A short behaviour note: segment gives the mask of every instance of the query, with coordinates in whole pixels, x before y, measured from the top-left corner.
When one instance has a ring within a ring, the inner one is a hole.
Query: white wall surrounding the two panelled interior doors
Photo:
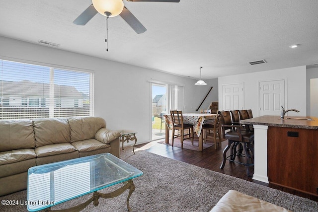
[[[306,66],[219,77],[219,109],[222,109],[222,86],[244,82],[244,107],[259,116],[259,82],[287,79],[287,109],[297,109],[295,116],[306,116]],[[291,114],[290,114],[291,115]],[[294,115],[294,114],[293,114]]]

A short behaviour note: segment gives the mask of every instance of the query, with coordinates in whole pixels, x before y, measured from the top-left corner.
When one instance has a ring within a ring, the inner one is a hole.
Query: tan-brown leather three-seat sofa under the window
[[[99,117],[0,120],[0,196],[27,188],[30,167],[110,152],[120,133]]]

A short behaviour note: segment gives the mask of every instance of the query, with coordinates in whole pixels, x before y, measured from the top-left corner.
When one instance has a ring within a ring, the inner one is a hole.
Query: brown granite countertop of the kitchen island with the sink
[[[312,119],[312,121],[307,119]],[[287,116],[285,119],[280,119],[280,116],[260,116],[252,119],[240,120],[239,123],[318,130],[318,118],[308,116]]]

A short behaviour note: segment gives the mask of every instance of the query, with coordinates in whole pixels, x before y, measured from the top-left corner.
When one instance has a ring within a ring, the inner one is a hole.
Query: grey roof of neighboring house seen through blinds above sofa
[[[1,81],[0,93],[7,96],[50,96],[50,84],[32,82],[29,80],[22,81]],[[83,98],[83,94],[74,86],[54,84],[54,96]]]

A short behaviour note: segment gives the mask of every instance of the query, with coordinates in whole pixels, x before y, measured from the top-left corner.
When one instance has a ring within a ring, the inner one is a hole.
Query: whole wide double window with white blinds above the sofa
[[[0,60],[0,119],[92,116],[92,74]]]

